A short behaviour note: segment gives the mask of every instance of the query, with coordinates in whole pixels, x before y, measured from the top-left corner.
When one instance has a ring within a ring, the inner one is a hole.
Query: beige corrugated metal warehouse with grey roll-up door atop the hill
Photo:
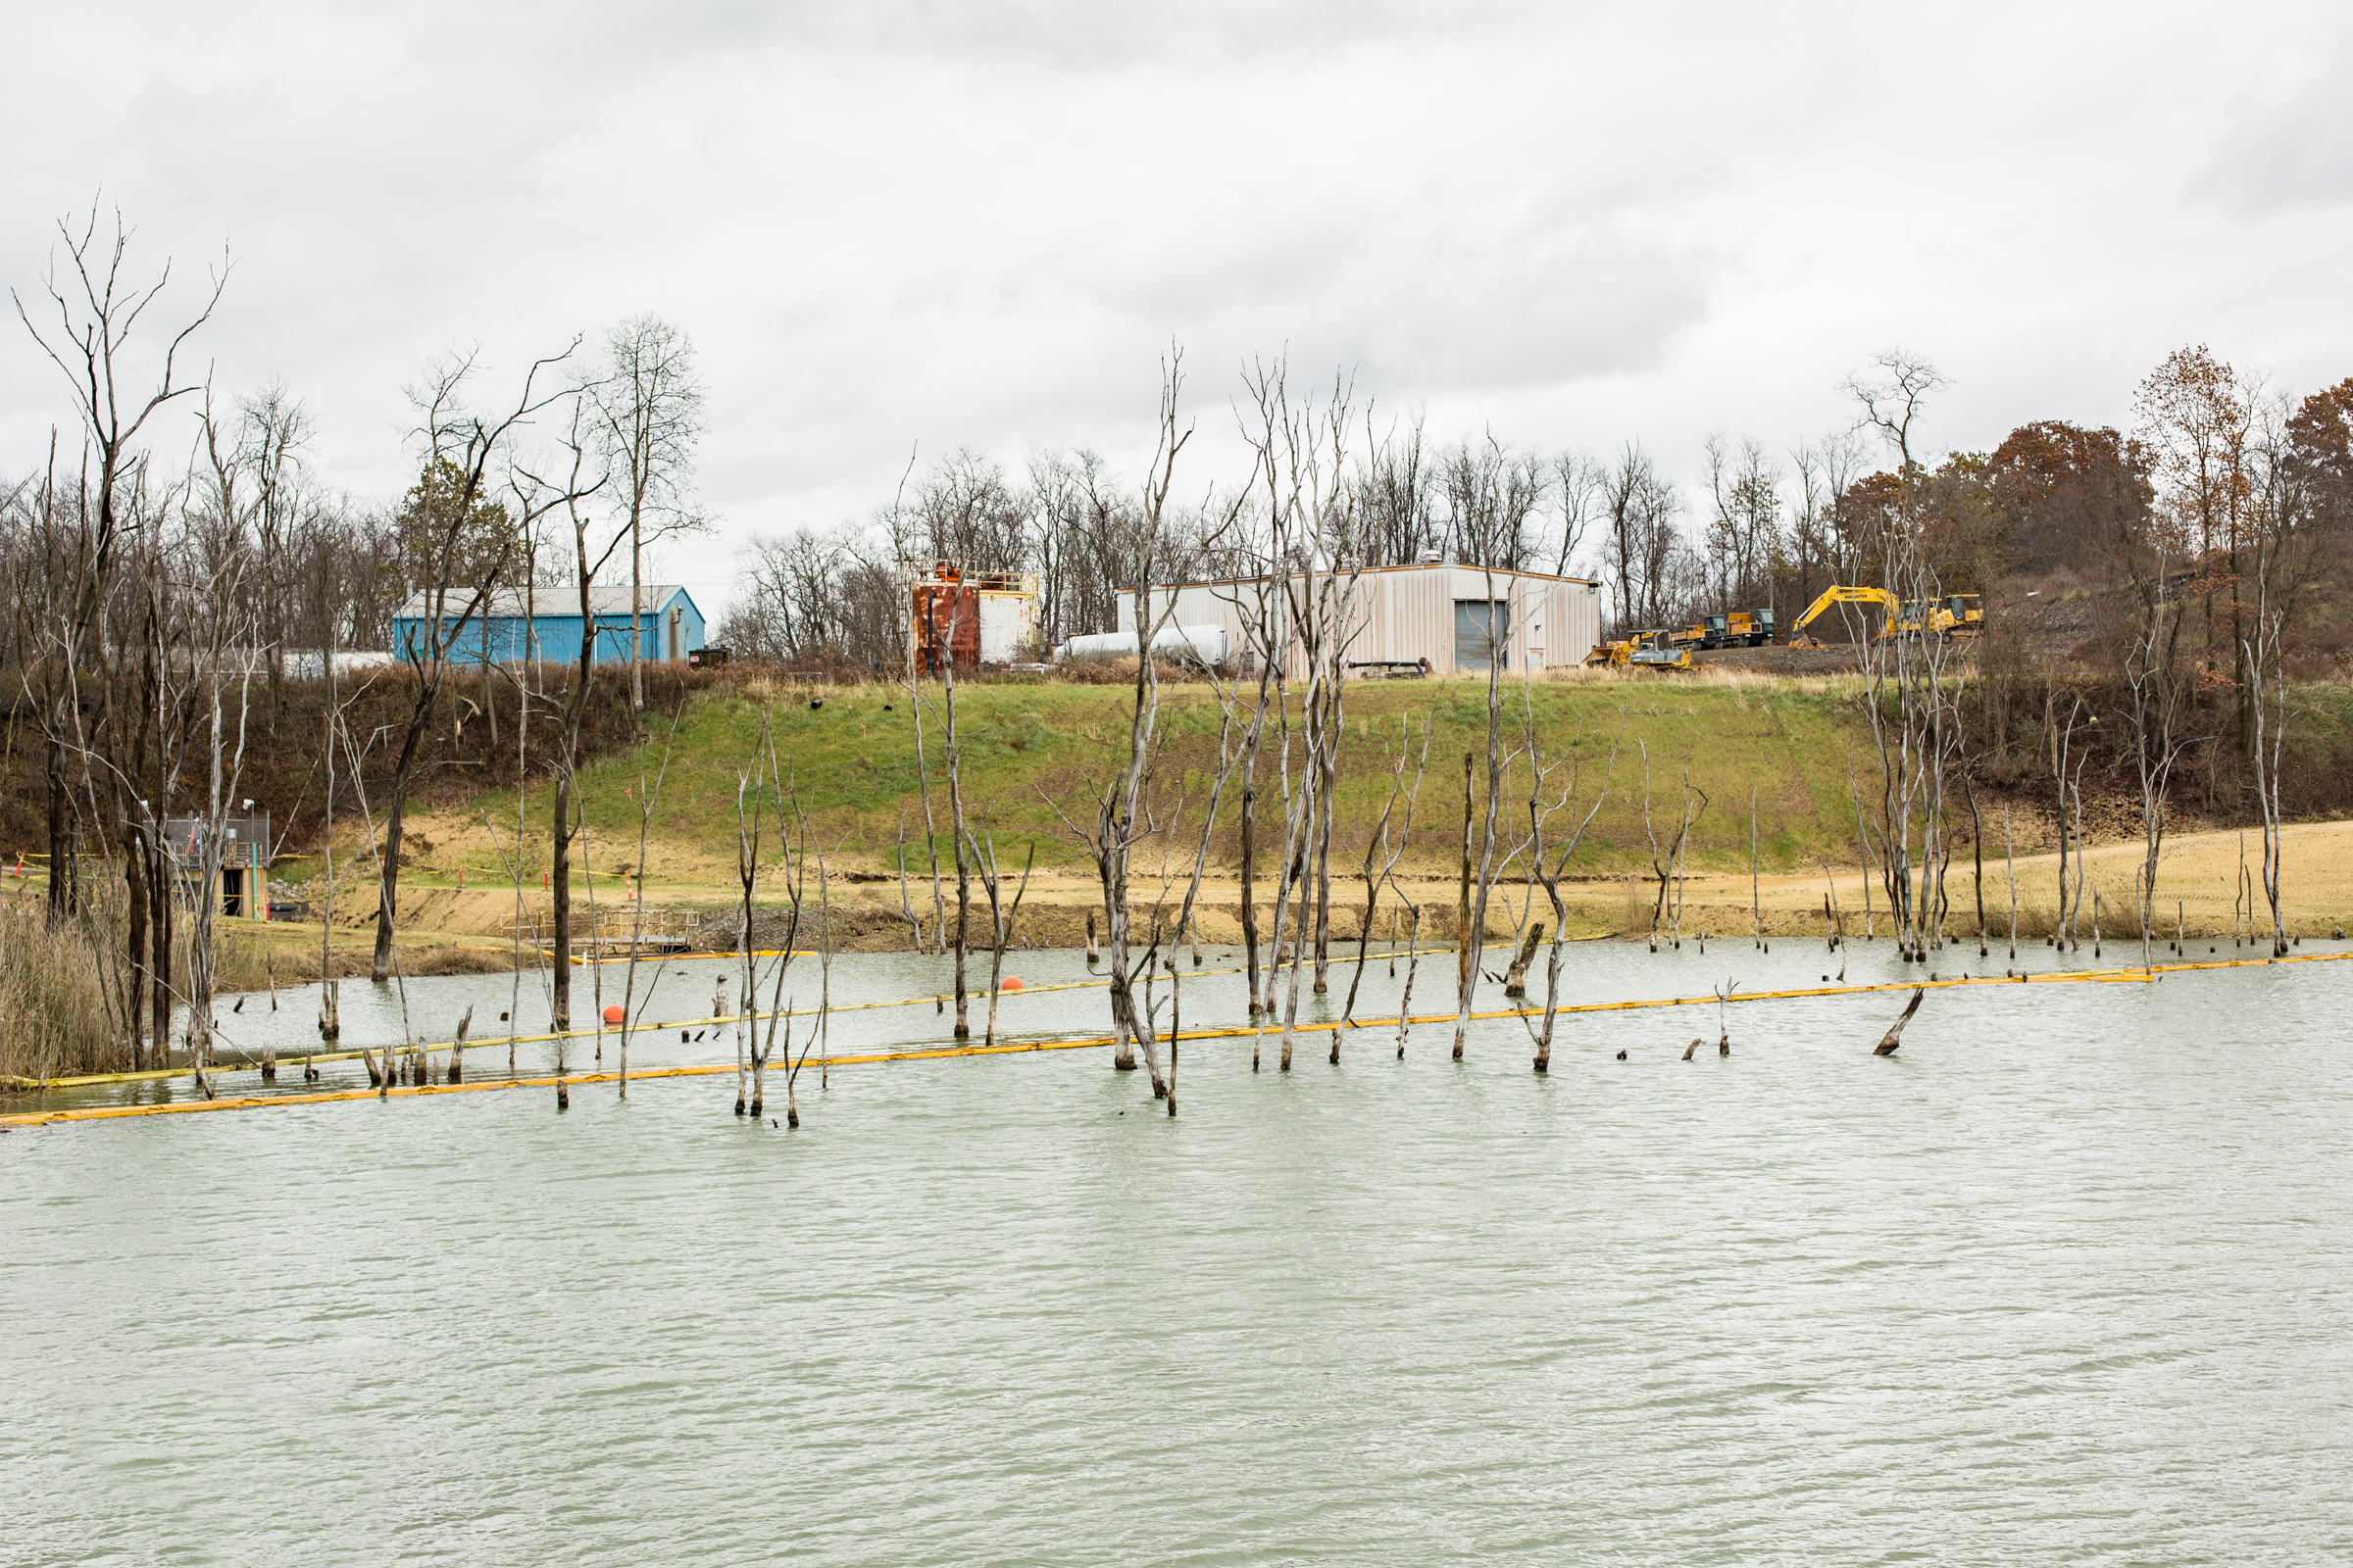
[[[1306,592],[1306,578],[1292,578]],[[1235,649],[1252,646],[1245,628],[1259,616],[1259,599],[1282,609],[1268,578],[1184,583],[1153,588],[1174,595],[1176,625],[1221,625]],[[1487,571],[1482,567],[1377,567],[1348,590],[1346,663],[1421,663],[1431,675],[1485,675],[1489,637],[1501,644],[1504,668],[1562,670],[1584,663],[1602,635],[1602,585],[1544,571]],[[1494,632],[1489,632],[1489,623]],[[1120,632],[1136,630],[1136,597],[1120,592]],[[1292,646],[1285,665],[1306,679],[1306,658]]]

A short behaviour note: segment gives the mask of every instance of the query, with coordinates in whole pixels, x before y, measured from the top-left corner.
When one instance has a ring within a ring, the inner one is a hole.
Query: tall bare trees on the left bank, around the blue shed
[[[12,289],[19,327],[68,388],[71,423],[0,484],[0,618],[9,748],[35,755],[52,931],[80,931],[104,971],[104,1060],[141,1067],[186,1006],[198,1084],[212,1018],[212,922],[233,832],[249,823],[264,733],[308,752],[318,820],[278,844],[325,844],[332,917],[346,884],[374,903],[372,973],[398,964],[409,799],[468,719],[518,780],[553,750],[558,1018],[569,1011],[569,858],[598,625],[631,628],[631,703],[645,708],[649,545],[706,527],[692,475],[704,428],[692,343],[654,317],[586,336],[489,390],[471,353],[409,388],[416,482],[355,501],[313,463],[313,416],[282,386],[245,395],[198,369],[228,287],[172,263],[141,270],[120,214],[61,223],[47,275]],[[186,409],[193,418],[176,423]],[[167,423],[167,418],[172,423]],[[628,585],[628,611],[600,611]],[[504,595],[504,599],[499,599]],[[576,661],[494,656],[489,611],[579,614]],[[520,602],[520,604],[518,604]],[[393,637],[409,616],[407,637]],[[289,686],[325,689],[294,703]],[[391,703],[386,703],[391,693]],[[379,719],[358,726],[365,710]],[[384,722],[386,705],[393,708]],[[508,733],[501,741],[501,712]],[[478,731],[480,733],[480,731]],[[553,745],[551,745],[553,743]],[[334,820],[367,856],[334,863]],[[520,839],[513,846],[520,898]],[[252,886],[247,898],[266,898]],[[320,973],[329,973],[320,936]],[[320,1032],[339,1032],[327,983]]]

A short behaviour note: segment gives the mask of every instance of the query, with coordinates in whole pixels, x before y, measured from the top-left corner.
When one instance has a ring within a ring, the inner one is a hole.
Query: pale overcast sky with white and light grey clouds
[[[1847,423],[1889,346],[1953,381],[1937,447],[2129,423],[2188,341],[2353,374],[2344,5],[16,0],[7,35],[5,282],[101,190],[167,301],[226,244],[200,350],[301,395],[334,484],[414,475],[440,353],[489,402],[576,331],[682,327],[708,609],[744,536],[866,512],[911,447],[1134,473],[1169,341],[1209,435],[1287,348],[1438,435],[1640,437],[1682,480],[1711,430]],[[0,341],[24,470],[68,411]]]

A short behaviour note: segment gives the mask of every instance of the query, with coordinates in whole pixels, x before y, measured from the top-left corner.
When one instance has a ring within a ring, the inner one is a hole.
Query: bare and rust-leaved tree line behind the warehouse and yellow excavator
[[[1920,393],[1941,390],[1932,367],[1892,360],[1911,367],[1901,374],[1927,369]],[[1868,418],[1788,454],[1708,437],[1692,482],[1640,440],[1602,458],[1497,437],[1442,444],[1421,418],[1358,433],[1344,461],[1369,520],[1369,564],[1591,574],[1607,588],[1612,635],[1725,609],[1772,609],[1786,628],[1824,588],[1880,581],[1908,529],[1946,592],[1995,595],[2052,574],[2132,576],[2228,552],[2257,505],[2287,527],[2353,531],[2353,376],[2285,395],[2184,348],[2151,374],[2134,414],[2132,433],[2042,418],[1991,451],[1941,458],[1920,433],[1880,449]],[[929,559],[1038,574],[1040,654],[1111,630],[1141,505],[1101,456],[1045,449],[1016,477],[958,449],[908,480],[866,520],[753,541],[718,639],[751,658],[889,670],[906,571]],[[1247,567],[1200,536],[1198,522],[1221,510],[1217,491],[1179,510],[1195,527],[1165,550],[1167,581]],[[2228,630],[2212,639],[2235,649]]]

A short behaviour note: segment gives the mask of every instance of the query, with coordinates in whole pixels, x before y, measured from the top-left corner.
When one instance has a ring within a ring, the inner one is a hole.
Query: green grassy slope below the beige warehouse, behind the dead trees
[[[1762,677],[1562,679],[1515,686],[1508,696],[1511,743],[1520,743],[1527,715],[1546,762],[1572,759],[1588,788],[1609,769],[1609,804],[1595,823],[1591,853],[1581,856],[1581,875],[1649,867],[1642,832],[1645,750],[1661,844],[1680,820],[1685,771],[1692,788],[1706,795],[1708,804],[1692,830],[1692,870],[1746,870],[1751,788],[1767,870],[1807,870],[1817,858],[1854,856],[1849,748],[1866,783],[1875,759],[1845,684]],[[1122,764],[1127,705],[1125,686],[979,682],[958,689],[967,813],[991,827],[1000,856],[1019,858],[1021,846],[1035,842],[1040,867],[1085,865],[1056,806],[1078,820],[1092,820],[1089,790],[1113,778]],[[925,813],[906,689],[835,686],[824,691],[824,708],[809,708],[807,689],[762,689],[758,682],[736,691],[696,693],[678,719],[675,741],[666,724],[656,724],[647,743],[584,771],[598,870],[616,865],[624,846],[628,858],[635,856],[642,785],[654,783],[668,745],[668,776],[649,823],[649,863],[671,879],[725,882],[734,865],[736,780],[751,766],[762,712],[774,724],[779,757],[819,842],[840,846],[838,865],[894,870],[904,823],[913,870],[922,853]],[[1409,745],[1419,752],[1421,724],[1428,719],[1428,776],[1407,865],[1445,872],[1461,832],[1464,752],[1480,757],[1478,776],[1485,780],[1485,682],[1353,686],[1346,717],[1334,856],[1346,863],[1362,853],[1388,802],[1400,745],[1407,743],[1400,731],[1412,731]],[[1184,827],[1169,835],[1172,856],[1181,860],[1200,830],[1217,771],[1219,708],[1212,691],[1169,686],[1162,736],[1153,802],[1165,813],[1176,813],[1181,804]],[[936,691],[925,705],[925,750],[932,811],[946,825]],[[1271,741],[1261,778],[1271,783],[1275,766],[1278,750]],[[1506,811],[1518,823],[1525,823],[1527,788],[1522,764],[1506,790]],[[513,790],[480,799],[468,811],[478,823],[475,811],[487,811],[492,823],[511,830]],[[1266,811],[1264,820],[1275,820],[1280,830],[1278,809]],[[534,865],[546,863],[544,813],[544,790],[534,788],[527,818],[527,853]],[[1212,839],[1217,867],[1231,867],[1238,853],[1235,813],[1238,785],[1228,788]],[[428,835],[471,837],[466,823],[452,818],[428,827]],[[1144,851],[1153,863],[1158,853],[1158,846]],[[1264,853],[1271,860],[1275,851]],[[438,858],[421,853],[419,870],[431,875]]]

